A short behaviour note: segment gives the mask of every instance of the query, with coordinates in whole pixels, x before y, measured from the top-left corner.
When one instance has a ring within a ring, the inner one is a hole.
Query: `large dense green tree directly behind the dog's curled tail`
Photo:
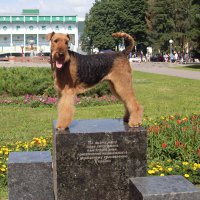
[[[111,34],[123,31],[144,46],[146,9],[146,0],[96,0],[86,15],[82,43],[100,50],[115,49],[122,40],[114,40]]]

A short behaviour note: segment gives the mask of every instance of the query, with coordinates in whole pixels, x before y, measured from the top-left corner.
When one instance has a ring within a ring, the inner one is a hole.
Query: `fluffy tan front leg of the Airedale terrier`
[[[72,92],[62,92],[58,103],[57,129],[64,130],[72,122],[74,116],[74,94]]]

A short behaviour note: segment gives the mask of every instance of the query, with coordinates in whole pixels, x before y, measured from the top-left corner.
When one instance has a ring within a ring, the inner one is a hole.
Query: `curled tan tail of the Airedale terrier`
[[[128,56],[135,45],[134,39],[129,34],[123,32],[113,33],[112,36],[115,38],[124,38],[128,41],[129,45],[122,51],[125,55]]]

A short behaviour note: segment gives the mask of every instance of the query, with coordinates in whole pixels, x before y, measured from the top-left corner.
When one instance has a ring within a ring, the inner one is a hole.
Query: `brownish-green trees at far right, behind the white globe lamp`
[[[195,0],[148,0],[149,44],[155,51],[200,51],[199,3]]]

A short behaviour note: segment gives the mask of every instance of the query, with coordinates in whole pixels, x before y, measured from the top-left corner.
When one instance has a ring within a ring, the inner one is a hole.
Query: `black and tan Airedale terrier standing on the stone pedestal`
[[[124,121],[130,127],[142,123],[142,108],[135,98],[127,58],[134,47],[134,40],[122,32],[113,33],[112,36],[125,38],[128,47],[122,52],[81,55],[68,49],[68,34],[52,32],[47,35],[51,41],[50,59],[55,86],[60,94],[57,129],[65,129],[72,122],[76,95],[104,80],[109,82],[113,94],[124,103]]]

